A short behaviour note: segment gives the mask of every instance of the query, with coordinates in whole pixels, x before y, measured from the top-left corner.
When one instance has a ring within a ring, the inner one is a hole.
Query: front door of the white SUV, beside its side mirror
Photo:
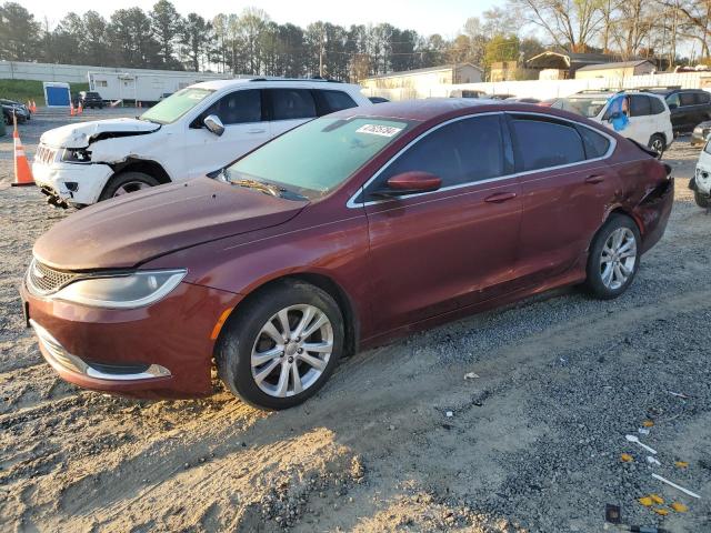
[[[204,175],[234,161],[269,140],[269,123],[263,121],[262,91],[232,91],[193,120],[186,134],[186,169],[190,178]],[[217,115],[224,133],[216,135],[204,127],[204,119]]]

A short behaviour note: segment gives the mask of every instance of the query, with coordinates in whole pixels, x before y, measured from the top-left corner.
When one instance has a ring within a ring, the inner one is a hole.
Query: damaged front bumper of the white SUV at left
[[[59,207],[89,205],[99,201],[113,169],[101,163],[32,163],[34,182]]]

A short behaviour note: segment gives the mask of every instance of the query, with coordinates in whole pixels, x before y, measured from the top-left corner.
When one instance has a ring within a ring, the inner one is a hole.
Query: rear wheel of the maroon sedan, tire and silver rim
[[[617,242],[617,235],[622,235],[623,239],[615,250],[613,244]],[[625,249],[630,239],[633,239],[633,245]],[[634,221],[624,214],[612,213],[598,230],[590,245],[585,280],[588,291],[600,300],[612,300],[627,291],[640,266],[641,244],[640,230]],[[612,249],[612,253],[608,252],[609,249]],[[620,250],[624,255],[619,255]],[[603,258],[609,258],[610,261],[603,264]],[[615,265],[619,271],[615,270]]]

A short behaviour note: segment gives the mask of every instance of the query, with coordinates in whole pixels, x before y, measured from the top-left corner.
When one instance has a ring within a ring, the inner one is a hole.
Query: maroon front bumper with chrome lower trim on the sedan
[[[41,353],[63,380],[142,399],[209,395],[217,324],[241,300],[191,283],[130,310],[40,298],[24,282],[20,293]]]

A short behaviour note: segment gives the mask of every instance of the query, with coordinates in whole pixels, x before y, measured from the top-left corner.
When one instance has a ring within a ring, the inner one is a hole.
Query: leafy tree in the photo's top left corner
[[[8,61],[31,61],[38,57],[40,24],[16,2],[0,6],[0,57]]]

